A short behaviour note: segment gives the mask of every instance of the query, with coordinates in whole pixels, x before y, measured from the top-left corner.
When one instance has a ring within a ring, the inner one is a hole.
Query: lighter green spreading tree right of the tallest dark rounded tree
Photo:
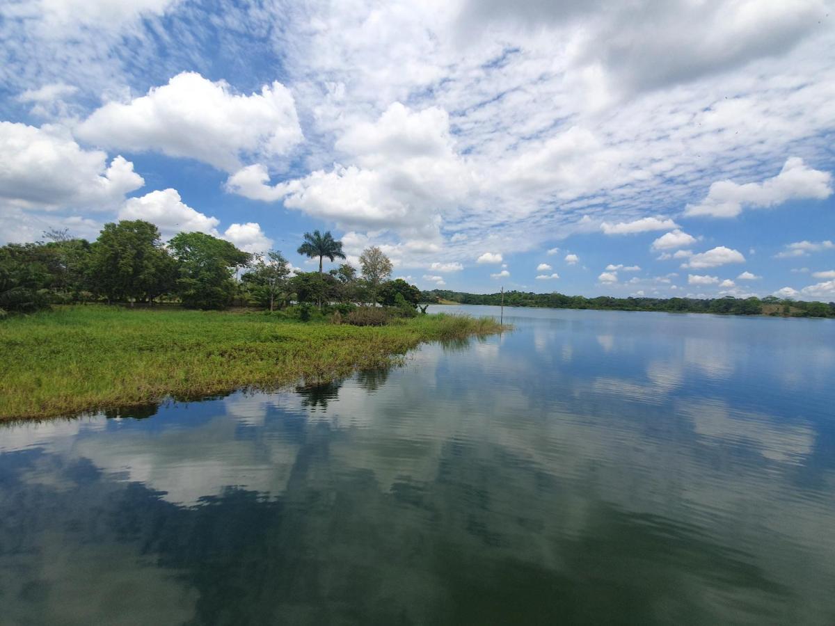
[[[183,305],[194,309],[223,309],[235,295],[235,269],[247,265],[251,255],[229,241],[205,233],[180,233],[169,248],[180,265],[177,293]]]

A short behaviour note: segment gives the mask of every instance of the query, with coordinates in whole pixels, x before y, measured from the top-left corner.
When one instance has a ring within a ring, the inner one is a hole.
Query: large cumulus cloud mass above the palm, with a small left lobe
[[[226,189],[251,199],[284,199],[286,207],[347,228],[431,239],[440,213],[457,207],[474,182],[448,114],[438,107],[412,111],[392,103],[376,121],[347,129],[336,149],[346,164],[275,185],[265,166],[253,164],[232,174]]]

